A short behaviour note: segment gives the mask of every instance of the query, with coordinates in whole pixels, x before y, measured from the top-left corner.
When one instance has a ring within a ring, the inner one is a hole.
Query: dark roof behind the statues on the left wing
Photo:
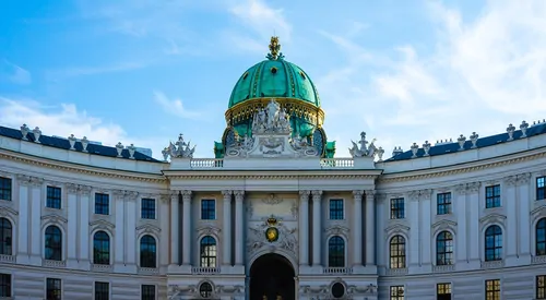
[[[16,140],[23,140],[23,134],[21,133],[20,130],[12,129],[12,128],[5,128],[5,127],[0,127],[0,135],[2,136],[8,136]],[[34,142],[34,134],[28,132],[26,134],[26,139],[28,141]],[[61,148],[61,149],[70,149],[70,142],[66,139],[61,137],[54,137],[54,136],[48,136],[48,135],[40,135],[39,136],[39,142],[45,145],[45,146],[50,146],[50,147],[56,147],[56,148]],[[82,152],[82,143],[81,142],[75,142],[74,148],[76,152]],[[118,156],[118,151],[116,147],[109,147],[109,146],[103,146],[103,145],[96,145],[96,144],[87,144],[87,152],[90,154],[94,155],[100,155],[100,156],[109,156],[109,157],[117,157]],[[121,156],[123,158],[129,159],[129,149],[124,148],[121,152]],[[145,154],[142,154],[140,152],[134,152],[133,155],[135,160],[144,160],[144,161],[152,161],[152,163],[161,163],[159,160],[147,156]]]

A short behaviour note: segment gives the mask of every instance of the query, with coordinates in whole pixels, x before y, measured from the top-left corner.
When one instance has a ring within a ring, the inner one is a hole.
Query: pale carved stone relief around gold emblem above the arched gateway
[[[271,218],[275,217],[271,216]],[[265,230],[268,228],[270,228],[270,224],[268,221],[263,221],[249,228],[249,235],[247,237],[247,251],[249,255],[252,255],[256,251],[262,249],[263,247],[271,245],[273,250],[275,248],[281,248],[297,257],[297,228],[288,228],[282,223],[282,220],[277,219],[275,228],[278,230],[278,239],[272,242],[269,242],[265,239]]]

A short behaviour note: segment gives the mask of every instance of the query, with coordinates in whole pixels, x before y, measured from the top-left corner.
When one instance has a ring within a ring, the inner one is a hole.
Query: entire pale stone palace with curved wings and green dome
[[[270,50],[215,158],[0,127],[0,299],[546,298],[546,122],[334,158]]]

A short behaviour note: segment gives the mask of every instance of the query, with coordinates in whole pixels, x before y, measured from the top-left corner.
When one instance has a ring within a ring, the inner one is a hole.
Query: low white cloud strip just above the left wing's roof
[[[105,122],[100,118],[88,116],[85,110],[78,110],[73,104],[62,104],[60,109],[41,106],[32,99],[10,99],[0,97],[1,125],[19,129],[27,124],[34,129],[39,127],[45,135],[76,137],[87,136],[91,141],[102,142],[103,145],[114,146],[118,142],[123,145],[134,144],[139,147],[152,148],[155,158],[161,158],[161,151],[168,143],[167,137],[154,136],[142,139],[129,136],[123,128],[112,122]]]

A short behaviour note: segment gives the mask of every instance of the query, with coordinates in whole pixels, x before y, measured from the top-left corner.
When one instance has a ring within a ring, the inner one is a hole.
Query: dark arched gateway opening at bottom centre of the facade
[[[258,257],[250,266],[249,299],[295,300],[294,276],[294,267],[286,257],[275,253]]]

